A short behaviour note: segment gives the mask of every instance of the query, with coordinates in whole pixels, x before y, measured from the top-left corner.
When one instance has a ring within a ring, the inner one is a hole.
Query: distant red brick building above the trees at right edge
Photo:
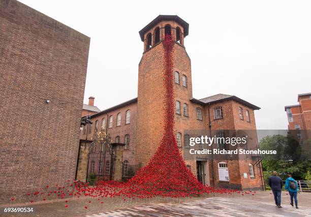
[[[296,130],[298,138],[308,139],[311,137],[311,92],[299,94],[297,101],[297,105],[285,106],[288,129]]]

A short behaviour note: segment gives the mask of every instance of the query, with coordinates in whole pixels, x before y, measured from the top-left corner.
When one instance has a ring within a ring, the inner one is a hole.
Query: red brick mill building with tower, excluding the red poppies
[[[235,134],[247,131],[248,149],[258,145],[254,110],[259,107],[238,97],[218,94],[197,100],[192,94],[191,60],[184,38],[189,24],[178,16],[160,15],[139,32],[144,51],[138,70],[138,97],[91,115],[92,126],[85,126],[81,139],[101,128],[112,141],[125,143],[123,162],[146,165],[160,144],[164,124],[164,51],[162,41],[171,34],[174,41],[175,131],[178,146],[189,152],[187,131],[207,132],[213,136],[230,130]],[[253,134],[253,135],[251,135]],[[261,164],[254,156],[241,159],[211,159],[206,156],[185,158],[188,168],[204,184],[239,189],[260,188]]]

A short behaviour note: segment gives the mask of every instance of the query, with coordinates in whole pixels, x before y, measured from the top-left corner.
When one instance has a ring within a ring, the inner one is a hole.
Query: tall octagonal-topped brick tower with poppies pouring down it
[[[166,34],[170,34],[175,41],[173,73],[176,71],[179,76],[179,84],[174,85],[175,98],[182,99],[182,102],[192,98],[191,61],[183,43],[188,31],[189,24],[180,17],[159,15],[139,32],[144,42],[144,52],[138,72],[137,163],[148,163],[163,135],[165,120],[162,42]]]

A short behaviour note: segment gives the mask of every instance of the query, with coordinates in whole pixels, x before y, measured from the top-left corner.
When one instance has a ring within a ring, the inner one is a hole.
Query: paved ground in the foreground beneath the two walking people
[[[244,196],[210,196],[209,198],[152,199],[122,202],[121,199],[97,200],[78,199],[65,202],[31,204],[15,207],[33,207],[32,213],[4,213],[1,216],[311,216],[311,193],[298,195],[299,209],[289,204],[289,195],[282,193],[283,208],[273,204],[270,192],[259,192],[256,195]],[[87,206],[87,209],[84,207]],[[12,207],[12,206],[9,206]]]

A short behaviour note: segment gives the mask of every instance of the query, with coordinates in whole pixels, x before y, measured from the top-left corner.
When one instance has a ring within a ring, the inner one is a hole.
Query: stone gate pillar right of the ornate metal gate
[[[111,146],[114,153],[112,164],[112,180],[122,180],[123,150],[125,144],[112,143]]]

